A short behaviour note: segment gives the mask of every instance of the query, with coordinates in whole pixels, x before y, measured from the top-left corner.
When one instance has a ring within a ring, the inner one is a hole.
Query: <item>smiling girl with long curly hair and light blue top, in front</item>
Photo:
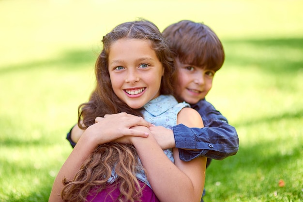
[[[199,202],[206,158],[184,162],[178,149],[162,150],[147,127],[133,127],[144,137],[123,137],[114,120],[99,117],[126,112],[169,129],[180,123],[203,127],[195,110],[169,95],[176,76],[159,29],[143,20],[123,23],[103,37],[103,45],[97,86],[79,108],[78,125],[87,129],[58,173],[49,201]]]

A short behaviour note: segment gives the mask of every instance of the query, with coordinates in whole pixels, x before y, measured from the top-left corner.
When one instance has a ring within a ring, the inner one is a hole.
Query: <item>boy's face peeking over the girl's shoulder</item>
[[[189,104],[196,104],[204,99],[212,88],[214,71],[206,68],[183,64],[178,58],[175,59],[178,69],[177,96]]]

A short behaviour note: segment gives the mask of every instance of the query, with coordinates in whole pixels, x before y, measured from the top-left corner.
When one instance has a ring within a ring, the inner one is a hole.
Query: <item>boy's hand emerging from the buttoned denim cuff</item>
[[[173,148],[176,146],[175,137],[172,130],[166,129],[163,126],[151,126],[150,131],[152,136],[162,149]]]

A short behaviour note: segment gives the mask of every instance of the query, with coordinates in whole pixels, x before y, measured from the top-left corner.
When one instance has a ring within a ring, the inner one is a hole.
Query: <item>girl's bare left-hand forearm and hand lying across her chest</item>
[[[123,114],[120,115],[125,118]],[[62,201],[61,190],[63,188],[63,178],[67,178],[68,180],[73,179],[82,163],[89,157],[91,152],[93,152],[99,144],[115,141],[127,135],[138,135],[140,137],[148,136],[148,132],[146,131],[136,133],[132,132],[133,130],[127,130],[129,128],[128,124],[133,125],[132,121],[127,121],[126,119],[125,121],[117,121],[115,117],[116,116],[113,117],[114,119],[97,117],[96,123],[88,127],[83,132],[78,143],[64,162],[54,181],[49,202]],[[141,117],[138,118],[141,119]],[[123,120],[123,118],[119,120]]]

